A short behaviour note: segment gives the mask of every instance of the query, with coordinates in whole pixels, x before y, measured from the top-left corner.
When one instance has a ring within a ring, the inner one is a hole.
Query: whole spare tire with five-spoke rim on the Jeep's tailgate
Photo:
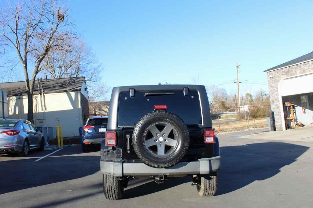
[[[185,156],[189,147],[189,133],[179,116],[156,110],[136,123],[132,145],[137,156],[148,166],[171,167]]]

